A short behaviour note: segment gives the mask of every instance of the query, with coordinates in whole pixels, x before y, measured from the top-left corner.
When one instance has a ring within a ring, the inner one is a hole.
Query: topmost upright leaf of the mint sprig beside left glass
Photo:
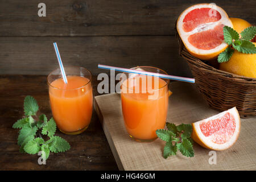
[[[35,98],[32,96],[26,96],[24,99],[24,113],[25,115],[36,115],[39,106]]]

